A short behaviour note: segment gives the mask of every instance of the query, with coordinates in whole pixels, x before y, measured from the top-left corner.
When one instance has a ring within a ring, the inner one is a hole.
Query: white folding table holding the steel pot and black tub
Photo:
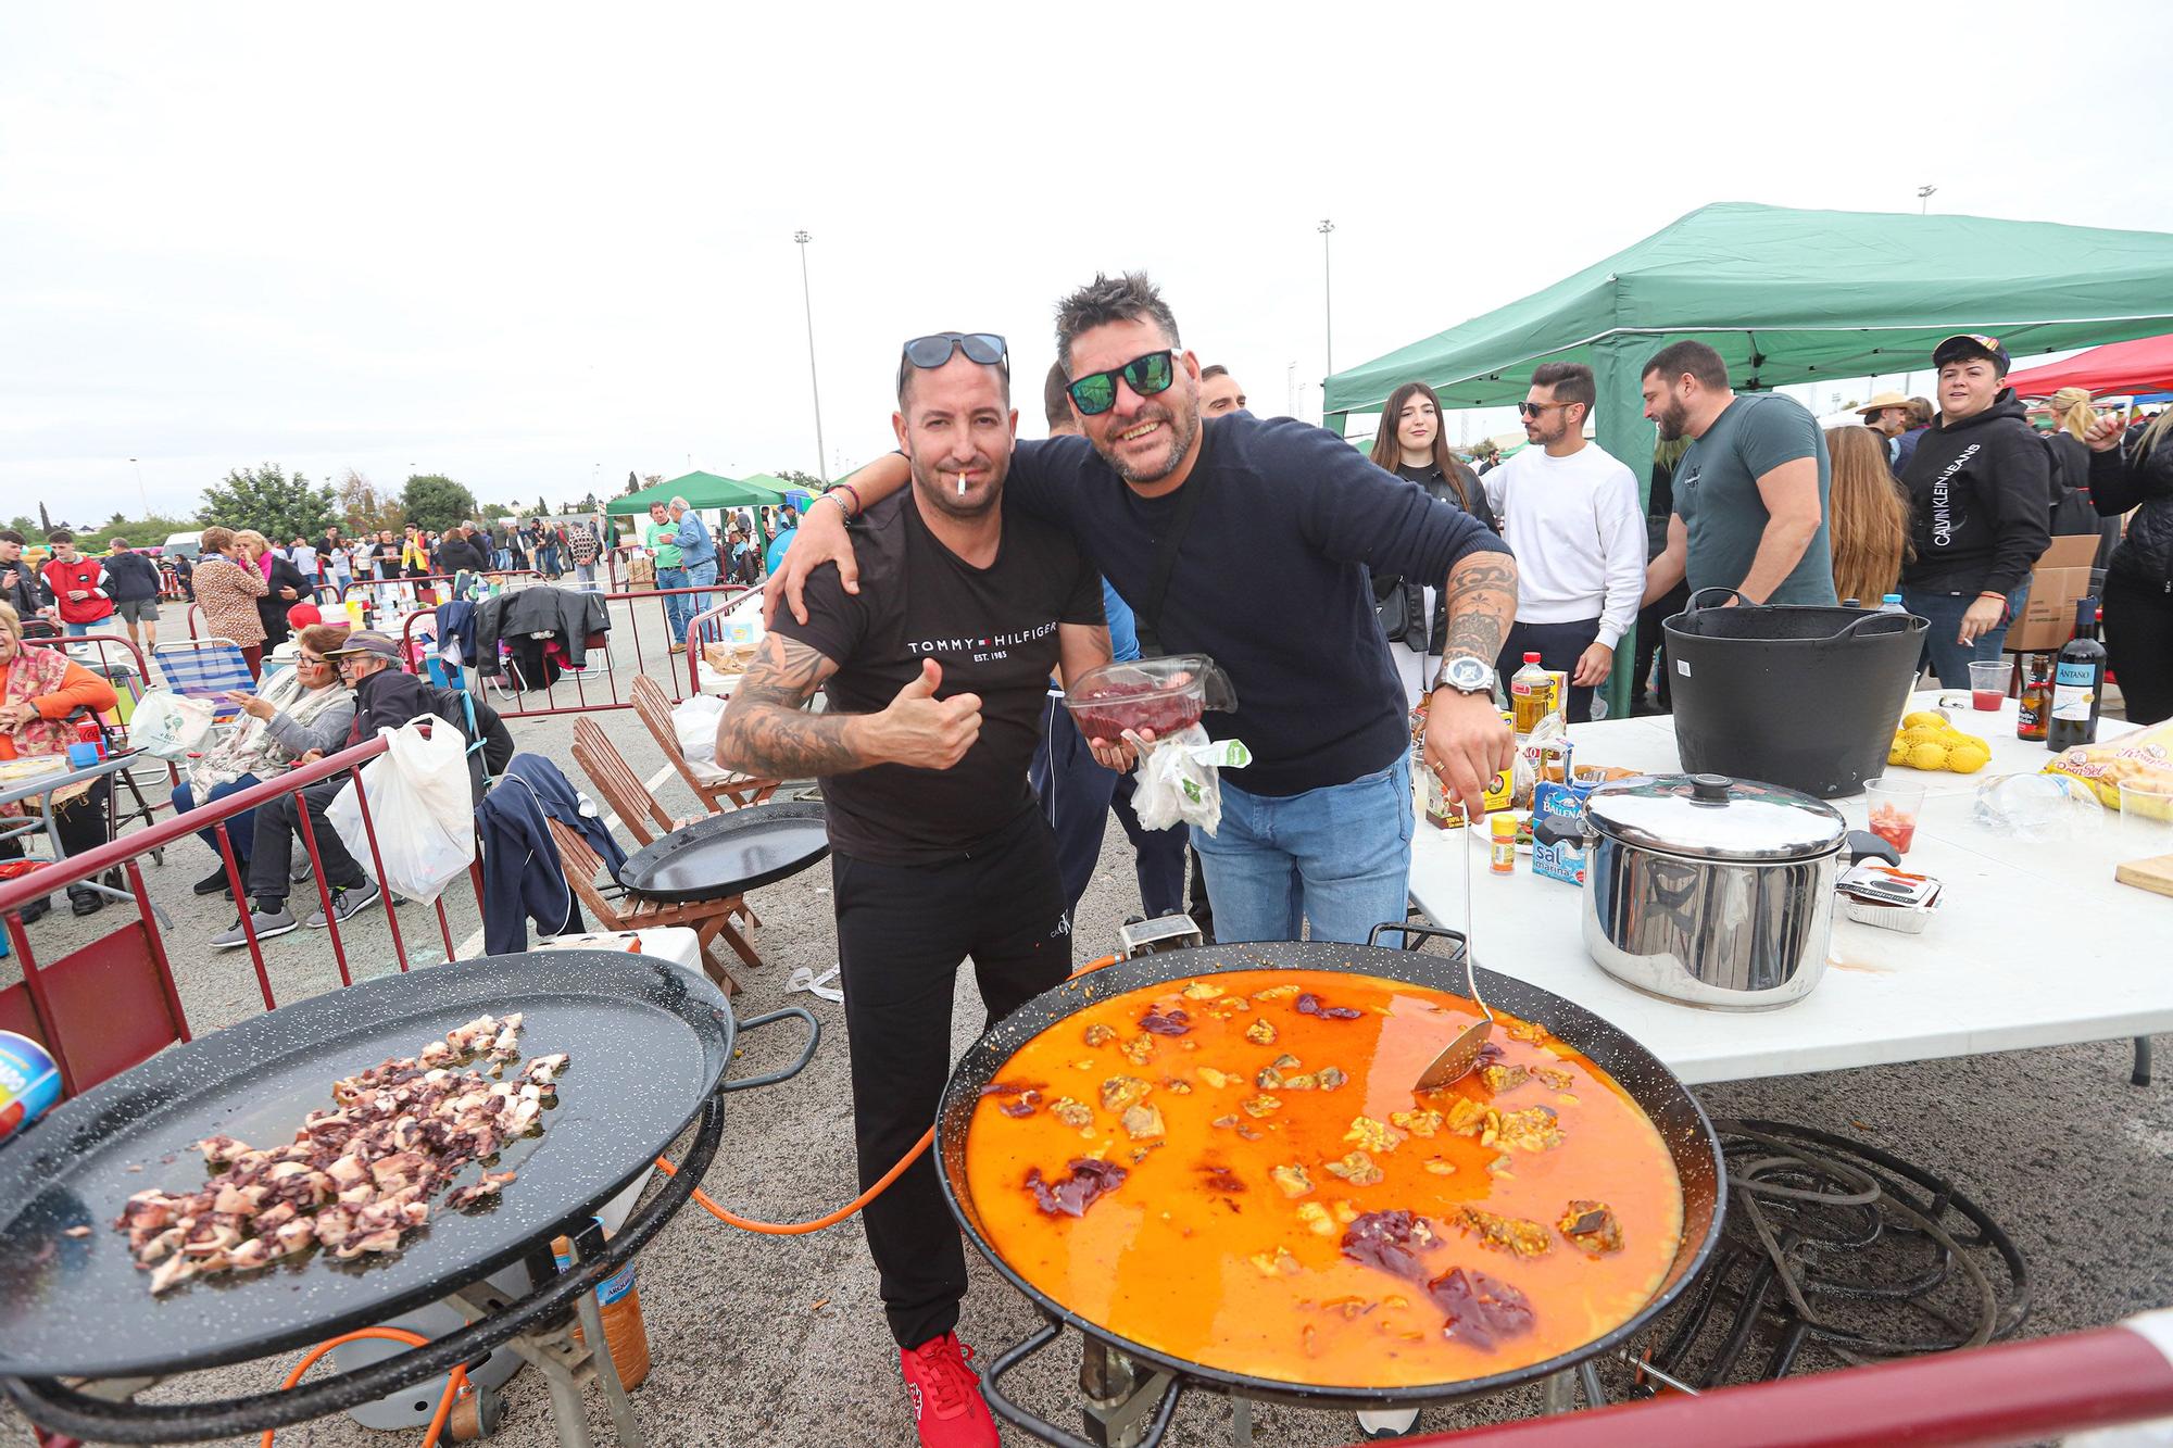
[[[1940,698],[1956,696],[1919,694],[1910,709]],[[1904,865],[1945,883],[1938,913],[1923,935],[1901,935],[1836,909],[1825,978],[1804,1000],[1775,1011],[1706,1011],[1634,991],[1586,954],[1582,887],[1532,874],[1521,854],[1517,874],[1489,874],[1484,841],[1471,881],[1478,963],[1604,1015],[1686,1083],[2173,1031],[2173,900],[2112,878],[2119,861],[2173,846],[2140,839],[2117,813],[2069,844],[2025,844],[1975,824],[1980,783],[2043,770],[2049,754],[2014,737],[2014,700],[1997,715],[1969,711],[1967,694],[1960,700],[1956,724],[1990,741],[1990,763],[1980,774],[1897,770],[1927,785]],[[2106,720],[2099,739],[2125,731]],[[1578,724],[1569,737],[1575,763],[1682,767],[1669,717]],[[1851,828],[1864,828],[1862,796],[1834,804]],[[1410,863],[1410,898],[1458,931],[1460,835],[1421,815]]]

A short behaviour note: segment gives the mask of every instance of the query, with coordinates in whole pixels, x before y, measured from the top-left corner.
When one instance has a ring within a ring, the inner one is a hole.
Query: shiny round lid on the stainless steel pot
[[[1841,811],[1808,794],[1725,774],[1645,774],[1593,789],[1593,828],[1693,859],[1791,861],[1841,848]]]

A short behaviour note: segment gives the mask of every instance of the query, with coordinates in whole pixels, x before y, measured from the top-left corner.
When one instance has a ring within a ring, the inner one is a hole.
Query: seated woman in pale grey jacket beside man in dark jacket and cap
[[[226,702],[241,707],[241,720],[230,735],[183,770],[183,781],[174,785],[174,813],[261,785],[311,750],[330,754],[346,746],[348,726],[354,724],[354,696],[341,687],[339,670],[324,657],[346,639],[346,628],[311,624],[296,639],[300,659],[291,670],[267,672],[254,694],[226,696]],[[196,837],[217,854],[217,831],[196,831]],[[228,820],[226,837],[235,846],[235,863],[246,881],[250,846],[256,839],[256,811]],[[196,883],[196,894],[215,896],[224,889],[228,883],[222,859]]]

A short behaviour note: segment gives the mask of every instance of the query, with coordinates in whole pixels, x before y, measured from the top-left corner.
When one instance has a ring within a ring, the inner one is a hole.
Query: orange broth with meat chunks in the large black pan
[[[1682,1185],[1606,1072],[1502,1011],[1491,1081],[1415,1096],[1475,1015],[1308,970],[1095,1002],[1013,1054],[974,1111],[982,1231],[1108,1333],[1256,1378],[1412,1387],[1578,1348],[1660,1289]]]

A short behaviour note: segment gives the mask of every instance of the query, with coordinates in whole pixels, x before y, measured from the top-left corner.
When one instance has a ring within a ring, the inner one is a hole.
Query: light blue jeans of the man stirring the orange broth
[[[1402,924],[1410,900],[1410,754],[1347,785],[1293,796],[1245,794],[1221,781],[1223,817],[1193,848],[1208,876],[1215,939],[1362,944],[1378,924]]]

